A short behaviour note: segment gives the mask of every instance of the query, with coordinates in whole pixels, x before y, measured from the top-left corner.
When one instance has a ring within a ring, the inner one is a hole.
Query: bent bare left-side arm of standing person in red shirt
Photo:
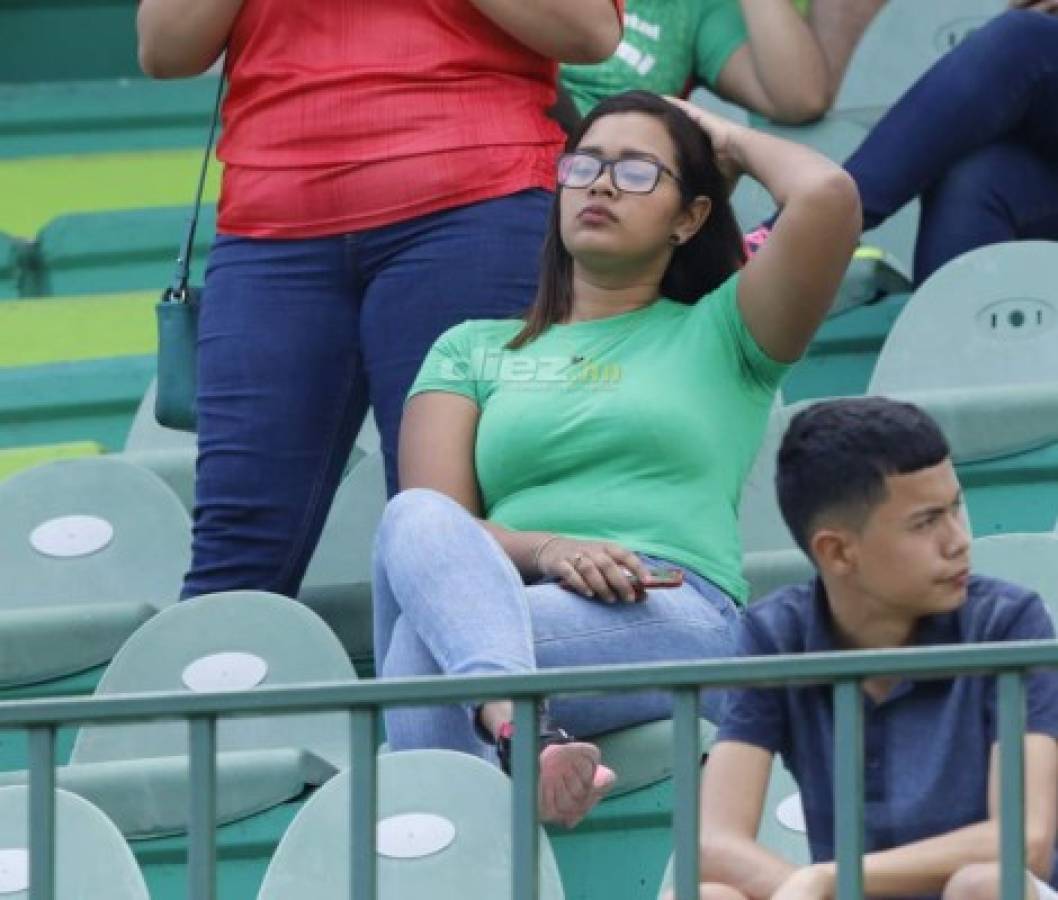
[[[153,78],[204,72],[223,52],[241,6],[242,0],[142,0],[140,67]]]

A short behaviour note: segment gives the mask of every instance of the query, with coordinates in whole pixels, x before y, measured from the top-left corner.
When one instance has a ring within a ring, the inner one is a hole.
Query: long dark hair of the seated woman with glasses
[[[573,150],[585,132],[604,115],[638,112],[659,118],[676,147],[680,195],[686,205],[695,197],[708,197],[712,210],[706,223],[686,243],[677,246],[661,278],[661,294],[681,304],[694,304],[718,288],[746,261],[742,233],[728,201],[728,186],[716,165],[713,145],[701,128],[681,109],[647,91],[626,91],[607,97],[589,112],[570,133],[566,149]],[[564,322],[573,308],[573,259],[562,242],[559,197],[541,254],[540,287],[526,314],[525,327],[508,347],[516,350],[539,337],[548,326]]]

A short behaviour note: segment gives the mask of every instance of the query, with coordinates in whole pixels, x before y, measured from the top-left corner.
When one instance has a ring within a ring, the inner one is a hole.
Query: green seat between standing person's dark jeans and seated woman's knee
[[[386,504],[382,454],[354,462],[339,485],[298,594],[334,630],[352,660],[371,660],[371,550]]]

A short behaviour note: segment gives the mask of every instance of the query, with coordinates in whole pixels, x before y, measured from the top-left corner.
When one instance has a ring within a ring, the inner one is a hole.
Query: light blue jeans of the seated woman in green
[[[646,557],[644,557],[646,558]],[[685,570],[679,588],[606,604],[554,582],[523,584],[510,557],[449,497],[415,489],[386,507],[375,548],[375,665],[380,677],[524,673],[559,666],[731,656],[738,622],[719,588]],[[703,694],[715,719],[719,692]],[[669,718],[668,694],[557,697],[551,718],[577,737]],[[490,757],[470,708],[386,711],[395,750],[442,748]]]

